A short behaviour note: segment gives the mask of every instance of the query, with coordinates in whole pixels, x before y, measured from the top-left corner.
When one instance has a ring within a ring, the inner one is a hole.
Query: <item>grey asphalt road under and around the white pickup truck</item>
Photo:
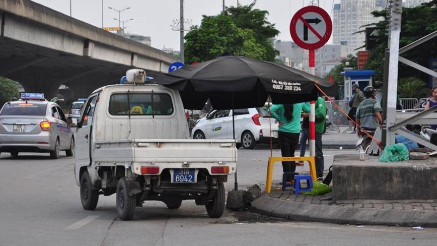
[[[336,153],[325,150],[326,168]],[[273,150],[273,155],[279,155]],[[239,150],[240,189],[265,182],[270,150]],[[305,168],[305,167],[304,167]],[[302,167],[298,167],[302,169]],[[336,225],[269,218],[226,210],[220,219],[204,206],[184,201],[169,210],[145,202],[134,220],[121,221],[115,195],[100,197],[97,209],[82,208],[74,177],[74,159],[48,154],[0,155],[0,246],[3,245],[435,245],[437,229]],[[274,178],[281,175],[280,164]],[[234,188],[231,176],[226,190]]]

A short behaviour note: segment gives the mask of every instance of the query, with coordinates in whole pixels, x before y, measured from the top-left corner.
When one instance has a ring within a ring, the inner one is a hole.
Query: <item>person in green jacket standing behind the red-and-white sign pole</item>
[[[323,151],[322,151],[322,134],[325,132],[326,124],[326,105],[322,97],[318,97],[315,102],[316,108],[316,173],[317,180],[323,181],[323,170],[325,169]],[[303,107],[302,117],[309,117],[309,103]]]

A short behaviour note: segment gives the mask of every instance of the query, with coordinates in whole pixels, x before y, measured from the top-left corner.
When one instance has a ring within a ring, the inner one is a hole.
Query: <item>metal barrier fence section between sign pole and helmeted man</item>
[[[345,113],[349,111],[349,102],[347,100],[339,100],[333,101],[337,104]],[[335,105],[332,104],[331,101],[326,101],[326,109],[328,118],[326,122],[328,122],[328,127],[326,128],[326,132],[329,133],[331,131],[340,132],[340,127],[349,127],[343,131],[352,132],[353,131],[353,123],[352,121],[347,119],[347,115],[344,115],[340,109],[338,109]],[[330,123],[330,124],[329,124]]]

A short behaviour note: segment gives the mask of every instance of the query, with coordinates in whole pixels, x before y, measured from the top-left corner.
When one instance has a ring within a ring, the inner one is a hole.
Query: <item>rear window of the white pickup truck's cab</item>
[[[109,99],[109,113],[112,115],[170,115],[173,102],[166,93],[114,93]],[[152,100],[153,99],[153,100]],[[130,105],[128,105],[130,102]]]

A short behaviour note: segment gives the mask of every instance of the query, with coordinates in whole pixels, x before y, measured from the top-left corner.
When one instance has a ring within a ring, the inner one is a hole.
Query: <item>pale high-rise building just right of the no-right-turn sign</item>
[[[335,4],[332,11],[333,43],[351,45],[359,48],[365,45],[366,34],[360,28],[364,25],[377,23],[380,19],[371,12],[384,8],[381,0],[341,0]]]

